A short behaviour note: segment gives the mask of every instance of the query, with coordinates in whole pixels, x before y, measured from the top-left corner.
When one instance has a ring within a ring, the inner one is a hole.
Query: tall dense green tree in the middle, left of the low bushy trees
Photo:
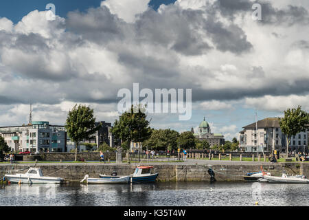
[[[132,105],[128,111],[119,116],[119,120],[115,120],[111,129],[116,138],[121,138],[123,142],[126,142],[127,149],[130,148],[131,142],[140,144],[148,140],[151,135],[150,122],[146,120],[147,115],[141,110],[143,109],[140,106]]]

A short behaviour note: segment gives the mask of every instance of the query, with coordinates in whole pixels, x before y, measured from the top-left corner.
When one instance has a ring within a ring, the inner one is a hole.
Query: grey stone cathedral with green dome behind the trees
[[[192,131],[194,133],[194,131]],[[193,134],[198,140],[207,140],[209,145],[212,146],[221,146],[225,144],[225,137],[220,133],[211,133],[210,126],[208,122],[205,121],[198,126],[198,131]]]

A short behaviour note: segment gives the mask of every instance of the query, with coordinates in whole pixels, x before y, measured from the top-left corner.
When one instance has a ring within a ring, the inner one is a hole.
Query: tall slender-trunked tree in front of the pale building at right
[[[301,131],[306,131],[309,124],[309,115],[306,111],[301,110],[301,106],[297,109],[287,109],[284,111],[284,118],[279,118],[282,133],[286,135],[286,157],[288,157],[288,146],[293,135]]]

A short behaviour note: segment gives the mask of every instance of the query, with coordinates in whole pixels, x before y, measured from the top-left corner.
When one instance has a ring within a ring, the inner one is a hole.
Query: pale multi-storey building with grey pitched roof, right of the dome
[[[286,152],[286,135],[280,129],[278,118],[265,118],[244,126],[243,129],[239,133],[239,140],[240,148],[244,151]],[[297,133],[291,138],[289,151],[308,152],[308,131]]]

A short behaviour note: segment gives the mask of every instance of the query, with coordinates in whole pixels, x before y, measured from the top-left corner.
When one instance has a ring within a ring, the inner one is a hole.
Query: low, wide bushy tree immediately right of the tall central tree
[[[144,146],[156,150],[176,150],[179,133],[171,129],[152,130],[150,138],[144,142]]]

